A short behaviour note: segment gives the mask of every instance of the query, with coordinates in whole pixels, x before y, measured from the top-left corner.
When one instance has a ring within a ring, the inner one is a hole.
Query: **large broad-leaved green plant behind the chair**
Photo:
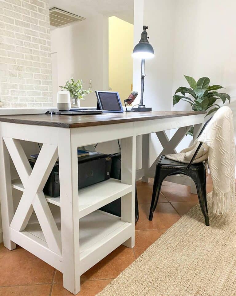
[[[190,88],[181,86],[179,87],[173,96],[173,105],[177,104],[180,100],[188,102],[193,111],[208,111],[207,115],[214,113],[221,106],[216,104],[216,101],[220,99],[223,104],[226,99],[230,103],[230,95],[227,93],[219,93],[216,92],[217,89],[223,88],[221,85],[209,85],[210,79],[208,77],[201,77],[196,82],[193,77],[186,76],[186,78]],[[181,95],[177,95],[177,93],[181,93]],[[186,96],[189,94],[191,97]],[[188,131],[189,135],[193,136],[193,126]]]

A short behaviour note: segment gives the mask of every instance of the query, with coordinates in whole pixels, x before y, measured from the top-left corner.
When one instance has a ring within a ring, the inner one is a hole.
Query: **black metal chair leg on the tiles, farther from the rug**
[[[161,174],[161,169],[159,167],[156,167],[155,171],[155,177],[153,182],[153,191],[152,191],[152,198],[151,198],[151,207],[149,212],[149,221],[152,220],[153,212],[155,211],[156,205],[158,203],[160,191],[161,191],[161,184],[163,180],[165,179],[165,176]]]

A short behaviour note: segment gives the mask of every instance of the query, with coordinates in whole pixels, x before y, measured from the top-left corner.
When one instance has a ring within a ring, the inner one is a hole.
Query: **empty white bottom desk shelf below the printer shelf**
[[[60,215],[55,218],[61,232]],[[97,210],[79,220],[81,274],[95,265],[132,236],[131,223],[120,220],[120,217]],[[22,234],[35,238],[44,246],[46,240],[37,219],[30,219]],[[107,244],[109,242],[109,244]]]

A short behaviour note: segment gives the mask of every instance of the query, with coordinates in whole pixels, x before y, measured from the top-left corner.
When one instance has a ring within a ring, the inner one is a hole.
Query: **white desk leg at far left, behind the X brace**
[[[6,145],[0,136],[0,199],[2,211],[2,230],[3,230],[3,244],[9,249],[16,248],[16,244],[10,240],[9,226],[14,216],[12,187],[11,187],[11,173],[10,173],[10,156],[6,149]]]

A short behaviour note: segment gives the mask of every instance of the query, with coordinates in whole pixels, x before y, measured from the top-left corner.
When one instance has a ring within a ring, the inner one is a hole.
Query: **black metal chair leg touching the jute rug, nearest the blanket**
[[[207,209],[207,201],[206,201],[206,176],[195,179],[195,184],[197,187],[198,199],[200,208],[202,210],[203,216],[205,218],[206,226],[209,226],[209,216],[208,216],[208,209]]]

